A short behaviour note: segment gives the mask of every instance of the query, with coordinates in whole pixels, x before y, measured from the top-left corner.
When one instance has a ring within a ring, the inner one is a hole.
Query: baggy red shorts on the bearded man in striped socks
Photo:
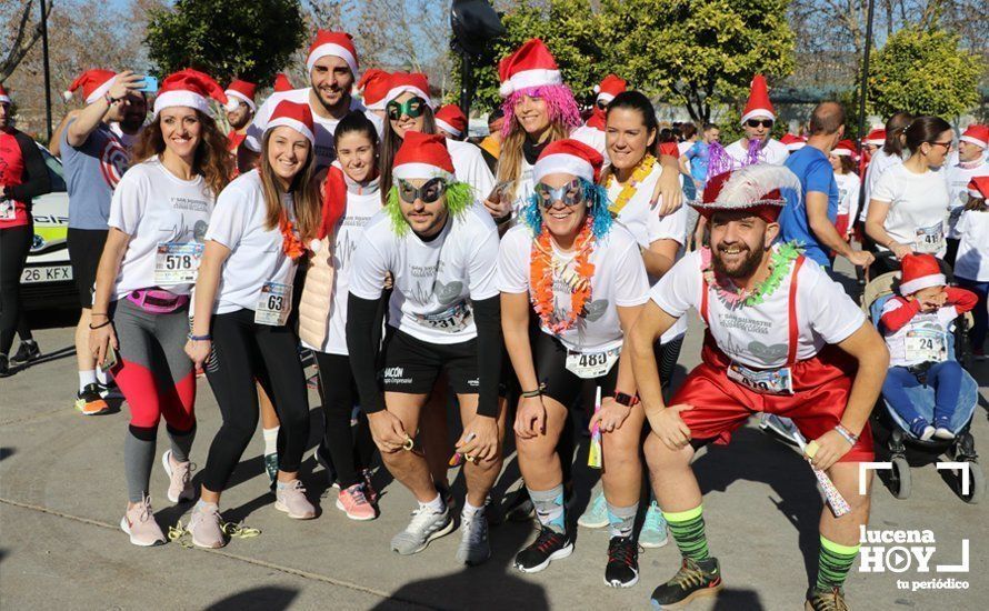
[[[730,360],[709,338],[705,340],[701,360],[670,404],[693,405],[692,410],[680,412],[691,438],[719,444],[728,443],[731,432],[757,412],[791,419],[808,440],[821,437],[841,421],[856,372],[856,362],[829,345],[817,357],[791,368],[793,394],[762,394],[728,379]],[[872,431],[866,423],[859,440],[839,462],[865,462],[873,457]]]

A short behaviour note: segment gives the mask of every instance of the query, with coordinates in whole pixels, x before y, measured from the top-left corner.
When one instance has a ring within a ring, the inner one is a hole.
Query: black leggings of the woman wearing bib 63
[[[309,441],[309,402],[298,340],[288,327],[257,324],[253,310],[217,314],[206,375],[223,423],[210,444],[202,483],[221,492],[258,428],[257,379],[281,421],[278,467],[294,472]]]

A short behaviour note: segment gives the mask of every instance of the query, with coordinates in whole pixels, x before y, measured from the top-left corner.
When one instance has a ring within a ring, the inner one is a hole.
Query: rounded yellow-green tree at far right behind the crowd
[[[869,109],[880,117],[906,110],[950,119],[975,107],[985,62],[958,41],[958,34],[919,27],[892,34],[869,69]]]

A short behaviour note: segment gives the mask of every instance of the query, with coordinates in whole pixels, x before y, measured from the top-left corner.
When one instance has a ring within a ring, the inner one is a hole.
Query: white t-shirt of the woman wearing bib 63
[[[294,220],[291,196],[282,204]],[[266,228],[266,216],[258,170],[237,177],[217,199],[206,239],[230,249],[213,309],[218,314],[254,310],[267,282],[291,286],[294,280],[296,262],[284,253],[278,226]]]

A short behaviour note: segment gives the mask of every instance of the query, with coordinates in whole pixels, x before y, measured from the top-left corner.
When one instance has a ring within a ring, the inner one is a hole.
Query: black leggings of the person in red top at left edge
[[[10,352],[13,332],[31,339],[31,328],[21,310],[21,272],[34,238],[34,227],[24,224],[0,229],[0,354]]]

